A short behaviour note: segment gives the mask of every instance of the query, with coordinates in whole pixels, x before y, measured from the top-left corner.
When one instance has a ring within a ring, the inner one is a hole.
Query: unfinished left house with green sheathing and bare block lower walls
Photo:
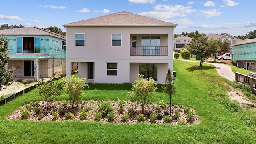
[[[66,36],[37,27],[0,30],[9,42],[9,68],[14,79],[52,77],[66,74]]]

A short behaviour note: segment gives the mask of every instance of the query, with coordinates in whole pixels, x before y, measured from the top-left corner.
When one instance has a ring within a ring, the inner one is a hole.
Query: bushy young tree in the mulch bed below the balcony
[[[143,78],[143,75],[139,74],[139,78],[136,78],[132,83],[132,92],[128,92],[128,96],[133,100],[141,102],[141,108],[144,111],[144,105],[154,96],[153,93],[156,89],[156,82],[152,78],[146,79]]]

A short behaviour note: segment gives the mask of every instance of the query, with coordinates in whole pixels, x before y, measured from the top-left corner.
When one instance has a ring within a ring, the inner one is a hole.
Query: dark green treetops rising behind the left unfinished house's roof
[[[4,29],[10,29],[10,28],[24,28],[25,26],[23,25],[8,25],[8,24],[2,24],[0,27],[0,30],[4,30]],[[45,30],[50,30],[50,32],[54,32],[56,34],[61,34],[63,36],[66,36],[66,32],[62,32],[62,30],[60,30],[60,28],[56,27],[56,26],[50,26],[48,28],[44,28]]]

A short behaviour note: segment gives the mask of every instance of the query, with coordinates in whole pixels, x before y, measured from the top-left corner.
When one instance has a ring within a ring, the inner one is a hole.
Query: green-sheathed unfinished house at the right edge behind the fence
[[[233,44],[232,61],[239,68],[256,72],[256,38]]]

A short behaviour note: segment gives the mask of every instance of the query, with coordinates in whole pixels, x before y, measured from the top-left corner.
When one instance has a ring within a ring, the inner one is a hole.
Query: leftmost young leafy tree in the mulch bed
[[[59,80],[55,82],[54,79],[51,79],[49,82],[44,82],[43,80],[37,82],[39,85],[39,96],[42,96],[47,101],[47,107],[49,108],[50,102],[62,93],[62,83],[59,83]]]

